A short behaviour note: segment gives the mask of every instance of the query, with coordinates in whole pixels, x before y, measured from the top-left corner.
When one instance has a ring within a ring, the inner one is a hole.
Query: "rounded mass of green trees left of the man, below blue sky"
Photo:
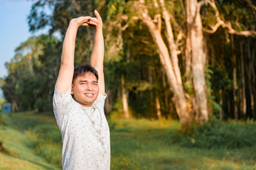
[[[60,64],[60,42],[48,35],[28,38],[16,48],[16,55],[6,63],[4,96],[16,101],[18,108],[49,111],[55,79]]]

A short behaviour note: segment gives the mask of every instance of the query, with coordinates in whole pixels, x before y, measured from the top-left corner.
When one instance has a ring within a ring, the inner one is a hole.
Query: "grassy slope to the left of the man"
[[[0,130],[6,136],[3,138],[6,149],[11,151],[6,155],[44,169],[61,167],[61,135],[54,117],[34,113],[12,113],[2,117],[4,123]]]

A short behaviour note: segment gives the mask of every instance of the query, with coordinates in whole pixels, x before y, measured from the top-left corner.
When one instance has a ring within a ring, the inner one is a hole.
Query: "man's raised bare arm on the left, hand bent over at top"
[[[64,94],[71,87],[73,73],[74,73],[74,56],[75,56],[75,38],[79,26],[97,26],[96,23],[91,21],[90,16],[81,16],[73,18],[70,21],[68,30],[65,33],[63,42],[63,51],[60,62],[60,72],[56,81],[56,89]]]

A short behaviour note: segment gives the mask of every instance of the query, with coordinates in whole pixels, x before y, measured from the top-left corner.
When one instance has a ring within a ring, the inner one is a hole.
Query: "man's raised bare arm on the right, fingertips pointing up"
[[[99,88],[100,93],[105,96],[105,81],[103,72],[103,60],[104,60],[104,39],[102,33],[102,18],[100,14],[95,10],[96,18],[92,18],[92,21],[97,23],[95,26],[95,38],[92,50],[92,55],[90,57],[90,65],[94,67],[99,74]]]

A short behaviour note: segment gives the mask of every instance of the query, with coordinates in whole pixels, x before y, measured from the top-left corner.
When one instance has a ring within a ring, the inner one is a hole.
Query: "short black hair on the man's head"
[[[94,67],[92,67],[90,64],[86,64],[86,65],[80,65],[75,67],[72,83],[75,81],[75,78],[85,76],[85,74],[87,73],[94,74],[98,81],[99,76],[97,74],[97,70]]]

